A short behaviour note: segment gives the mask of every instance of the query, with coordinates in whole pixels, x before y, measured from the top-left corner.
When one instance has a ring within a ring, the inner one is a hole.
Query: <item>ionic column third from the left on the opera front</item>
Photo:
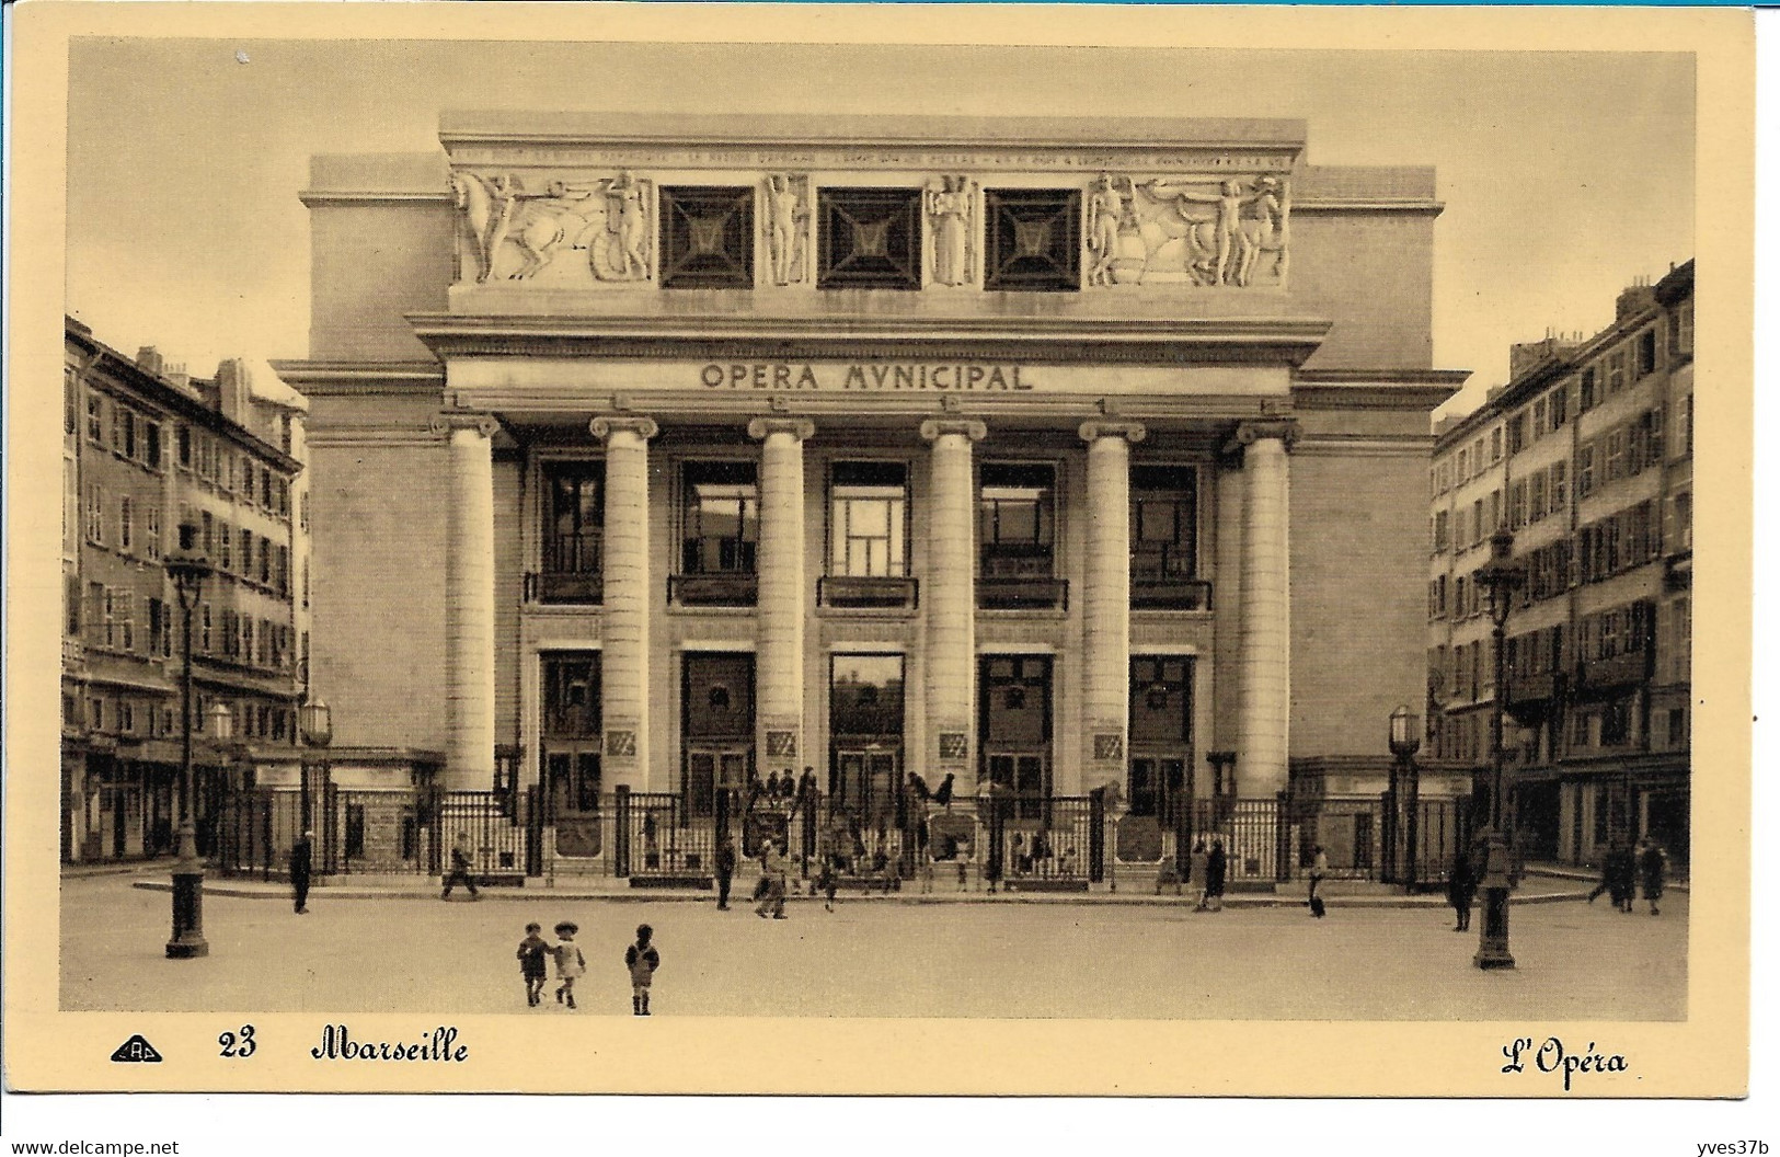
[[[760,776],[799,773],[803,742],[803,440],[808,418],[755,418],[760,440],[760,595],[755,758]],[[810,760],[813,762],[813,760]]]

